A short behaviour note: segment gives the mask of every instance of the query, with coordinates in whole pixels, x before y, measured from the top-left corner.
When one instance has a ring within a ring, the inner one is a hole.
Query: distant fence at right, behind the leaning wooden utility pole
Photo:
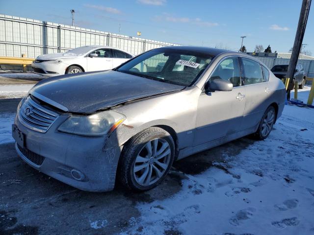
[[[269,69],[273,68],[274,65],[288,65],[290,61],[290,59],[282,58],[257,57],[257,59],[262,61]],[[314,78],[314,60],[298,60],[298,64],[303,66],[308,77]]]

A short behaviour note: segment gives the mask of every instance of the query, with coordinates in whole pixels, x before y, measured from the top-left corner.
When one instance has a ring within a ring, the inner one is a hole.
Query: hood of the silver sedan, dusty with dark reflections
[[[37,83],[30,94],[63,111],[93,113],[126,101],[182,89],[183,86],[109,70],[47,78]]]

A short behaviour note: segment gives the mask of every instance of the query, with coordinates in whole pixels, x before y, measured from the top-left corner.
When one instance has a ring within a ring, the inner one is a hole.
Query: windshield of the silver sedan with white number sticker
[[[191,86],[207,68],[212,56],[188,50],[154,49],[143,53],[116,71]]]

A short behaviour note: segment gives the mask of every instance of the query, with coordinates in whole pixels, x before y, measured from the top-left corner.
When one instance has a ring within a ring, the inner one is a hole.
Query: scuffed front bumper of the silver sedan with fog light
[[[61,133],[59,116],[46,133],[26,128],[19,118],[16,127],[25,136],[25,146],[15,144],[19,156],[33,168],[65,184],[85,191],[114,188],[122,147],[113,132],[110,137],[83,137]]]

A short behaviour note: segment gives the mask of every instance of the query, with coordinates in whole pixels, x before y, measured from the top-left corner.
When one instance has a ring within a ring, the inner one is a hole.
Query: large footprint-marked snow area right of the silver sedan
[[[314,234],[314,109],[286,105],[266,140],[224,158],[171,198],[138,203],[123,234]]]

